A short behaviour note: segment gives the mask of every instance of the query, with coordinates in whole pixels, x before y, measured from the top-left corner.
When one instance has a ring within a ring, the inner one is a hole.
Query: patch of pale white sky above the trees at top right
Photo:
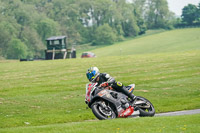
[[[188,4],[198,5],[200,3],[200,0],[167,0],[169,10],[174,12],[176,15],[181,16],[182,9],[184,6],[187,6]]]

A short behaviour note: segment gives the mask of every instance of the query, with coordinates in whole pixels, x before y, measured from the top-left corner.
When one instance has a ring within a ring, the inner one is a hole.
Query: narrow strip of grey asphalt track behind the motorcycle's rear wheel
[[[192,115],[192,114],[200,114],[200,109],[158,113],[155,114],[155,116],[176,116],[176,115]]]

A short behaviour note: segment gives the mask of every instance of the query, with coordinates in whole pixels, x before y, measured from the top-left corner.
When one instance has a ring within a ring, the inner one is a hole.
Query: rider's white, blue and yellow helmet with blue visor
[[[99,76],[100,72],[97,67],[90,67],[87,72],[86,76],[90,82],[94,82],[95,79]]]

